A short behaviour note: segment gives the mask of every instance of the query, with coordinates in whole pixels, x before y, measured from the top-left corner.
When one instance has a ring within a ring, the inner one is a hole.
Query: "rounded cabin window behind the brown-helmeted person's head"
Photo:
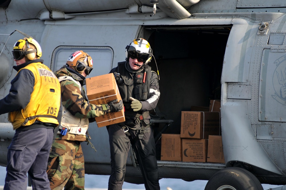
[[[51,70],[60,69],[65,65],[67,58],[78,50],[92,57],[94,69],[88,77],[107,74],[112,69],[113,50],[111,47],[59,46],[53,52]]]

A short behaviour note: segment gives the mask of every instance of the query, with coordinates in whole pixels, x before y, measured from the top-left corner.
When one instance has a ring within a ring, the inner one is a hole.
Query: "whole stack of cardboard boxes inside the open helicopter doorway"
[[[225,163],[220,136],[220,101],[211,100],[208,110],[191,110],[182,111],[180,134],[162,134],[161,160]]]

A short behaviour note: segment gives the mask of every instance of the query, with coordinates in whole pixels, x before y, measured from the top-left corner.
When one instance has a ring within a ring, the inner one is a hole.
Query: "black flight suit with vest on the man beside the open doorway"
[[[149,110],[156,107],[160,97],[157,74],[151,71],[148,65],[138,70],[132,70],[129,62],[119,62],[118,66],[113,68],[110,73],[120,74],[117,85],[125,107],[126,122],[107,126],[111,155],[111,175],[108,190],[122,189],[130,142],[136,153],[146,190],[158,190],[160,186],[155,141],[149,124]],[[130,108],[129,97],[140,100],[142,103],[140,111],[134,112]],[[144,119],[142,119],[142,115]],[[139,116],[141,116],[141,122],[139,119],[135,122]],[[140,129],[145,129],[145,133],[140,133]]]

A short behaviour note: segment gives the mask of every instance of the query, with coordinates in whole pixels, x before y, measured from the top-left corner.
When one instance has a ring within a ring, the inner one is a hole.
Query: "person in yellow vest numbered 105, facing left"
[[[39,59],[39,43],[29,37],[13,47],[18,72],[9,94],[0,100],[0,114],[8,114],[15,135],[8,147],[4,189],[50,189],[46,166],[54,128],[61,120],[61,89],[57,77]]]

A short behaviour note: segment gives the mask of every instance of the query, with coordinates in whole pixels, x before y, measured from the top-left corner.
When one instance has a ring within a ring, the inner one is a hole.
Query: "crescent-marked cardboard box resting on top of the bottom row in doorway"
[[[182,111],[181,138],[208,138],[208,135],[220,135],[219,112]]]

